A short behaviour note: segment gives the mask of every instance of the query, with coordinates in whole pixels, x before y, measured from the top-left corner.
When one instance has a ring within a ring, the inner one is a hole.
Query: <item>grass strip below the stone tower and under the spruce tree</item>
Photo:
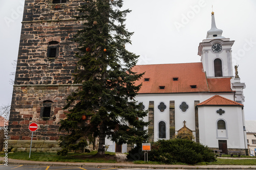
[[[32,152],[29,158],[29,152],[15,152],[8,154],[8,158],[19,160],[32,160],[32,161],[47,161],[47,162],[97,162],[97,163],[116,163],[115,153],[106,152],[106,156],[95,157],[97,151],[91,153],[69,153],[67,156],[60,156],[57,153],[42,153]],[[4,155],[0,155],[3,157]]]

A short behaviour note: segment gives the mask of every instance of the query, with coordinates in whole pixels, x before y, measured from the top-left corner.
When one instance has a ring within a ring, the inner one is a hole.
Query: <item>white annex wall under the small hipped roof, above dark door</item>
[[[224,114],[216,111],[222,109]],[[227,148],[245,148],[242,109],[238,106],[202,106],[198,109],[200,143],[219,148],[219,140],[227,140]],[[217,122],[223,119],[226,130],[218,130]]]

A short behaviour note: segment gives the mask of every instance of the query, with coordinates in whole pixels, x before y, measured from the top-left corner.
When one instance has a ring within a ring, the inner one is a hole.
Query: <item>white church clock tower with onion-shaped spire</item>
[[[233,77],[231,47],[234,41],[223,37],[222,32],[216,27],[214,12],[212,12],[211,29],[198,47],[198,55],[201,56],[207,78]]]

